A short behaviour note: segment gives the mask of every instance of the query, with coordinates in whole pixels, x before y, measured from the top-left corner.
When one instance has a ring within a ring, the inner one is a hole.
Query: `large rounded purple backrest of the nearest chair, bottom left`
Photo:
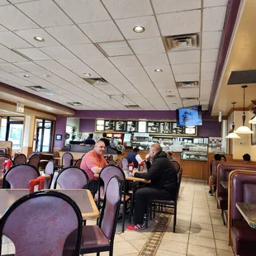
[[[70,197],[42,191],[21,197],[8,208],[0,234],[12,240],[15,255],[61,256],[65,240],[77,230],[73,255],[79,255],[82,228],[81,211]]]

